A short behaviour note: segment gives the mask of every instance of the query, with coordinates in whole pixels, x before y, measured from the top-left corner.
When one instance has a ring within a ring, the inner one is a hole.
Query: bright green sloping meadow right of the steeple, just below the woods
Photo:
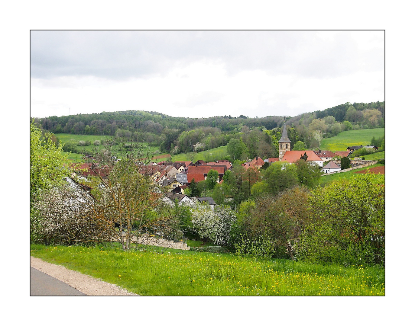
[[[335,137],[323,138],[320,148],[332,152],[345,151],[349,146],[371,145],[370,141],[373,137],[379,138],[383,135],[385,128],[343,131]]]

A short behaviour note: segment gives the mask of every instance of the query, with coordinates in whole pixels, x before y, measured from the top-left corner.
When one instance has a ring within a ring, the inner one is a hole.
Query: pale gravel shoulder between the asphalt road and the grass
[[[75,270],[70,270],[65,266],[47,263],[40,258],[31,256],[30,266],[58,280],[61,280],[68,285],[71,285],[71,287],[76,288],[86,295],[137,295],[135,293],[128,292],[118,285],[104,282],[98,278],[93,278],[92,276],[76,272]]]

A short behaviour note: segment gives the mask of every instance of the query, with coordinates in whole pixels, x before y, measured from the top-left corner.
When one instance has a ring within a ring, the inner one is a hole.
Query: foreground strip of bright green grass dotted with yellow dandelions
[[[384,269],[168,249],[31,245],[31,255],[139,295],[385,295]]]

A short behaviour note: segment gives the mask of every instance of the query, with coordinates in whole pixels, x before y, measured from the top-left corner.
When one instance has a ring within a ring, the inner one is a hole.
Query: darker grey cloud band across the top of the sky
[[[259,69],[325,78],[383,69],[383,49],[354,42],[353,33],[365,32],[339,31],[327,41],[315,31],[32,31],[31,75],[145,78],[201,59],[225,63],[230,75]]]

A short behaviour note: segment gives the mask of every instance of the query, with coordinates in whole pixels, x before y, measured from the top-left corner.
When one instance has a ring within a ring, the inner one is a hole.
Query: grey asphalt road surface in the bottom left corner
[[[46,273],[30,267],[30,295],[86,295]]]

